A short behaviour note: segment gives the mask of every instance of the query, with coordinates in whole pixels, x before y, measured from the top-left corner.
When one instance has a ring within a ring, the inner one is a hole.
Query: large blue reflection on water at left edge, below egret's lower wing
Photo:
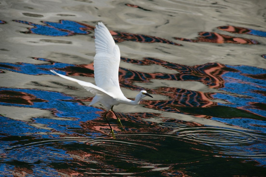
[[[65,94],[61,94],[58,92],[52,91],[42,91],[42,90],[34,90],[34,89],[14,89],[14,88],[0,88],[0,91],[15,91],[15,92],[23,92],[27,94],[31,94],[36,96],[38,99],[46,100],[44,102],[34,102],[32,105],[25,104],[16,104],[16,103],[3,103],[0,102],[0,105],[5,106],[16,106],[16,107],[25,107],[25,108],[38,108],[49,110],[56,117],[67,118],[68,120],[56,120],[45,117],[36,117],[33,118],[35,123],[43,124],[53,130],[58,132],[66,132],[68,134],[73,134],[71,132],[71,128],[81,128],[80,122],[86,122],[88,120],[93,120],[99,117],[99,114],[96,114],[96,111],[102,111],[101,109],[90,107],[86,105],[82,105],[78,102],[72,102],[74,97],[67,96]],[[68,101],[69,100],[69,101]],[[38,132],[51,132],[47,129],[40,129],[30,125],[27,125],[23,121],[11,120],[9,118],[5,118],[1,116],[2,122],[10,122],[8,124],[3,124],[1,131],[3,133],[11,133],[11,135],[19,135],[20,133],[30,132],[34,134],[40,134]],[[23,129],[19,129],[19,131],[14,131],[14,127],[11,126],[23,127]],[[13,132],[13,133],[12,133]],[[43,135],[41,134],[41,138],[51,138],[58,137],[58,135]],[[84,136],[84,135],[83,135]]]

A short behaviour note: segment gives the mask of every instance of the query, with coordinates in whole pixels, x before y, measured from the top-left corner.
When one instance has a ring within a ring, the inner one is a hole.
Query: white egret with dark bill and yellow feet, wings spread
[[[104,117],[107,120],[106,114],[111,109],[115,114],[113,107],[114,105],[119,104],[130,104],[138,105],[140,100],[146,96],[153,98],[151,95],[147,94],[145,90],[139,92],[135,100],[127,99],[122,93],[119,81],[118,81],[118,69],[120,63],[120,50],[118,45],[115,45],[114,39],[110,34],[106,26],[99,22],[96,25],[95,31],[95,50],[96,55],[94,56],[94,79],[96,85],[90,82],[80,81],[68,76],[64,76],[50,70],[51,72],[57,74],[60,77],[68,79],[70,81],[77,82],[87,91],[92,92],[95,97],[92,99],[92,102],[89,104],[93,105],[97,102],[102,103],[106,107],[106,112]],[[115,117],[117,115],[115,114]],[[117,122],[122,126],[121,121],[117,117]],[[111,129],[111,134],[115,139],[114,130],[112,129],[110,123],[108,125]],[[123,126],[122,126],[123,127]]]

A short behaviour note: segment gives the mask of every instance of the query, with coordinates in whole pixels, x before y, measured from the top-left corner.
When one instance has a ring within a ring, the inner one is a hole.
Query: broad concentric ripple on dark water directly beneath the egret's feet
[[[83,175],[130,175],[133,174],[132,169],[138,167],[134,174],[145,176],[149,171],[168,171],[177,165],[198,163],[210,158],[208,152],[199,153],[197,149],[189,148],[190,144],[180,141],[178,136],[124,134],[117,135],[117,138],[54,139],[28,143],[7,148],[7,158],[3,160],[19,161],[31,168],[35,166],[35,169],[52,166],[60,173],[68,174],[60,170],[60,164],[64,164]],[[23,158],[20,154],[24,154]]]

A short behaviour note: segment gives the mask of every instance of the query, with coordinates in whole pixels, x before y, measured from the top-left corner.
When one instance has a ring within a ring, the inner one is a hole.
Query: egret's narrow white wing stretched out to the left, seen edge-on
[[[97,87],[96,85],[90,83],[90,82],[85,82],[85,81],[81,81],[81,80],[78,80],[78,79],[74,79],[72,77],[68,77],[68,76],[65,76],[65,75],[62,75],[62,74],[58,74],[57,72],[55,72],[54,70],[50,70],[52,73],[55,73],[57,74],[58,76],[60,77],[63,77],[65,79],[68,79],[70,81],[74,81],[74,82],[77,82],[79,85],[81,85],[84,89],[86,89],[87,91],[89,92],[92,92],[94,95],[96,94],[102,94],[102,95],[108,95],[110,97],[113,98],[112,94],[110,93],[107,93],[105,90],[103,90],[102,88],[100,87]]]

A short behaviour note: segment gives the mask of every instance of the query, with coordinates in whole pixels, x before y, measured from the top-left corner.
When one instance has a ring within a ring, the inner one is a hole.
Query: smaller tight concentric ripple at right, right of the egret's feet
[[[265,140],[243,131],[200,127],[182,129],[178,131],[178,136],[185,141],[202,144],[198,150],[219,153],[219,156],[266,157]]]

